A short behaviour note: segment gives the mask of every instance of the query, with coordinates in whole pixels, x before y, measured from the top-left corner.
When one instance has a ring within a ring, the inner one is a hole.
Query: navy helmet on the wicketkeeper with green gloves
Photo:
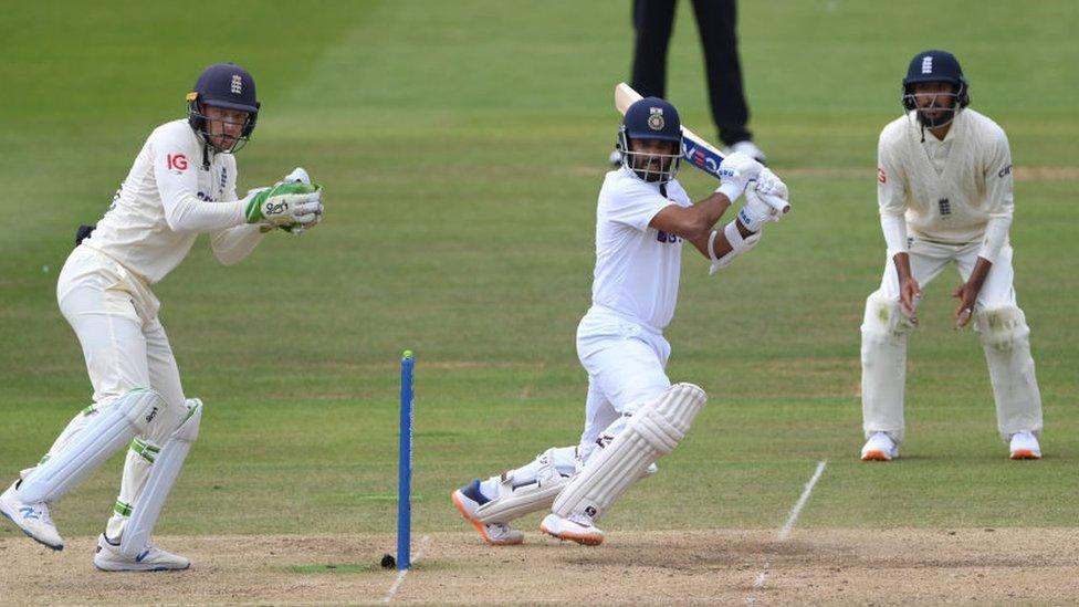
[[[199,74],[195,90],[187,94],[188,124],[203,140],[208,140],[203,106],[238,109],[248,113],[240,140],[230,151],[235,151],[251,137],[259,119],[259,103],[251,73],[234,63],[216,63]]]

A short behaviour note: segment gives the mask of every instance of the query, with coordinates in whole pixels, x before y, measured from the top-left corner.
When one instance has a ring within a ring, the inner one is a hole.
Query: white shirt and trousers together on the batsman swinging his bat
[[[624,416],[671,385],[664,370],[671,347],[662,331],[678,301],[682,239],[649,222],[664,207],[691,201],[677,180],[664,189],[666,196],[622,168],[608,172],[599,191],[593,305],[577,326],[577,355],[589,384],[582,458],[597,440],[618,433]]]

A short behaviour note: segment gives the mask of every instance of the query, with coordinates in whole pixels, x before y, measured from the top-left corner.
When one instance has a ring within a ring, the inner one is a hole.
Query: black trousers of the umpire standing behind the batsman
[[[677,0],[633,0],[637,46],[632,86],[646,97],[667,97],[667,48],[677,3]],[[704,48],[709,100],[720,140],[730,146],[752,139],[745,127],[750,108],[742,90],[735,0],[693,0],[693,12]]]

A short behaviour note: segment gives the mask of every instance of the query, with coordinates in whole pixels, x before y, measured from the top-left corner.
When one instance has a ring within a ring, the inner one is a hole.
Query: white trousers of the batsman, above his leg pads
[[[588,460],[597,441],[610,442],[628,417],[671,387],[671,345],[653,327],[594,305],[577,325],[577,356],[588,371],[585,428],[577,457]]]

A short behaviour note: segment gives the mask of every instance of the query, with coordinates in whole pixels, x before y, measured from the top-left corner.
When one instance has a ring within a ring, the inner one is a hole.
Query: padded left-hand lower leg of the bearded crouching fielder
[[[907,335],[914,327],[899,301],[873,293],[866,300],[861,324],[861,410],[866,438],[888,432],[895,442],[904,436]]]

